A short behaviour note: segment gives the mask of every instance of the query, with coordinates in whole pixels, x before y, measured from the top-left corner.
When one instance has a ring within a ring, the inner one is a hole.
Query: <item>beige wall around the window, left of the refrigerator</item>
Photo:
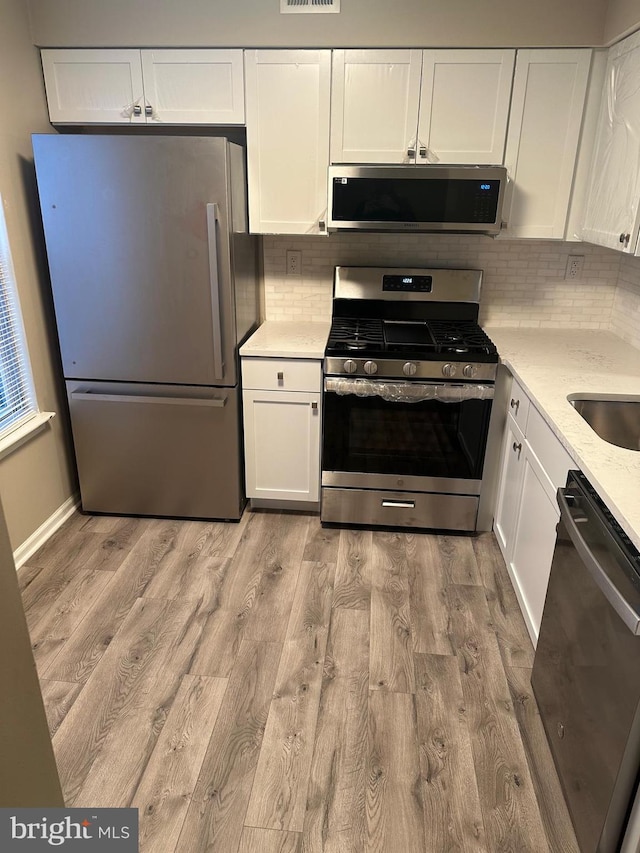
[[[0,495],[14,550],[75,491],[35,175],[31,133],[51,130],[37,50],[23,0],[0,0],[0,193],[40,408],[58,416],[0,461]]]

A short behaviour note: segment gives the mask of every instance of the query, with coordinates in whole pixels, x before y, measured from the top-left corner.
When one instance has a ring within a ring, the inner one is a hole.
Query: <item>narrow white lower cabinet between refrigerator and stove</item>
[[[320,500],[320,361],[242,359],[247,497]]]

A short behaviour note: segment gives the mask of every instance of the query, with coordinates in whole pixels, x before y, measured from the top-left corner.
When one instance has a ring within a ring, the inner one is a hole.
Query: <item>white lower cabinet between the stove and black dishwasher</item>
[[[508,411],[494,532],[535,645],[560,518],[556,490],[575,466],[515,380]]]

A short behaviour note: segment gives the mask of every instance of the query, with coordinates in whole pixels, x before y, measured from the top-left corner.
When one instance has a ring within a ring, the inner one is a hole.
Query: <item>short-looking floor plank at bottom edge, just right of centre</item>
[[[414,697],[369,694],[367,850],[423,853],[424,816]]]

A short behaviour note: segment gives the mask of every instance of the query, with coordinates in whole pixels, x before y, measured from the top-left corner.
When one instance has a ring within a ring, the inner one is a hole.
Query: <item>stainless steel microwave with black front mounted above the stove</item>
[[[329,231],[496,235],[504,166],[330,166]]]

